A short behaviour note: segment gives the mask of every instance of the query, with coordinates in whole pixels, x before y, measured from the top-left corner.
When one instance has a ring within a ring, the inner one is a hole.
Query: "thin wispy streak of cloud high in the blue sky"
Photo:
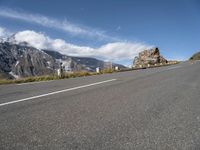
[[[99,40],[118,40],[118,38],[116,37],[106,35],[105,32],[101,30],[77,25],[67,20],[60,21],[38,14],[28,14],[25,12],[19,12],[12,9],[0,7],[0,16],[22,20],[29,23],[35,23],[44,27],[59,29],[73,35],[83,36],[84,38],[85,36],[87,36],[89,38],[97,38]]]

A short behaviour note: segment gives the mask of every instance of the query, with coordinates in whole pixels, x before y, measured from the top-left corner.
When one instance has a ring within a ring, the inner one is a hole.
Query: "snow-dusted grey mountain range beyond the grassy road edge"
[[[0,78],[20,78],[49,75],[59,66],[66,71],[95,71],[97,67],[107,67],[107,63],[95,58],[72,57],[56,51],[39,50],[22,42],[16,44],[10,40],[0,42]],[[122,65],[113,64],[113,67]]]

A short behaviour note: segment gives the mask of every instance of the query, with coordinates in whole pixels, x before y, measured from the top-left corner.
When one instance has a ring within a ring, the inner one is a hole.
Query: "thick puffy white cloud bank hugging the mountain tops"
[[[33,47],[55,50],[66,55],[96,57],[114,62],[132,60],[142,50],[152,47],[144,43],[130,42],[113,42],[99,48],[77,46],[62,39],[51,39],[42,33],[30,30],[16,33],[15,40],[18,43],[25,41]]]

